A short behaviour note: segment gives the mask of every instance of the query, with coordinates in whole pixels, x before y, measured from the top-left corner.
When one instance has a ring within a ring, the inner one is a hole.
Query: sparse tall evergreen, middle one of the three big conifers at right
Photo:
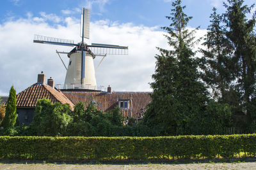
[[[216,13],[216,8],[213,8],[211,14],[211,25],[208,27],[207,38],[203,45],[206,50],[201,49],[203,57],[200,59],[200,68],[202,80],[210,87],[214,99],[223,101],[227,98],[227,91],[230,88],[230,83],[234,80],[230,71],[232,46],[225,36],[225,29],[221,26],[222,17]]]

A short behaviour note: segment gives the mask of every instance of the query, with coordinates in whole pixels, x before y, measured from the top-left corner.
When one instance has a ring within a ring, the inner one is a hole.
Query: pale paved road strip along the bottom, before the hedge
[[[244,163],[202,163],[202,164],[6,164],[0,169],[256,169],[256,162]]]

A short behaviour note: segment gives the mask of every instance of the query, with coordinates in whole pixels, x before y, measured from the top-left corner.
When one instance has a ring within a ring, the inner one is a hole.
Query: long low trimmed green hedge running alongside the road
[[[212,159],[255,157],[256,134],[171,137],[0,137],[1,159]]]

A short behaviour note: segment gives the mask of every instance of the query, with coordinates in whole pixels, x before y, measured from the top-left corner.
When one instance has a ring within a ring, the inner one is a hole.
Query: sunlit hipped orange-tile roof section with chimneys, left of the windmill
[[[17,107],[35,108],[38,99],[47,98],[52,103],[60,102],[69,104],[71,110],[74,109],[74,104],[58,89],[53,89],[49,85],[35,83],[23,90],[16,97]]]

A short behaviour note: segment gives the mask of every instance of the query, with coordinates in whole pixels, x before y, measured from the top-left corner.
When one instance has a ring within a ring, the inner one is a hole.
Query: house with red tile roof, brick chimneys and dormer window
[[[140,120],[147,111],[147,104],[152,101],[150,94],[151,92],[112,92],[111,87],[108,87],[106,92],[92,89],[58,89],[54,86],[52,78],[46,83],[45,74],[42,72],[38,74],[37,83],[17,94],[17,113],[20,125],[29,125],[35,115],[38,99],[47,98],[52,103],[67,103],[72,110],[79,102],[84,103],[85,107],[95,103],[97,109],[103,112],[118,106],[125,119],[134,117]]]

